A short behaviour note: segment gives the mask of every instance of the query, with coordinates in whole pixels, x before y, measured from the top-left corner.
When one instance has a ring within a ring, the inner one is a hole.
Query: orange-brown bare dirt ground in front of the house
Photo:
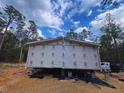
[[[58,80],[51,76],[29,78],[24,67],[0,69],[0,93],[124,93],[124,82],[110,77],[107,83],[116,88],[83,80]],[[97,73],[103,80],[103,75]]]

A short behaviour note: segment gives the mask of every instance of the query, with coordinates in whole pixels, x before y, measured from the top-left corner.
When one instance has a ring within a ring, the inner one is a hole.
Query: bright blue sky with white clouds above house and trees
[[[115,0],[113,0],[115,1]],[[124,29],[124,1],[118,7],[110,6],[102,10],[101,0],[0,0],[0,6],[13,5],[27,20],[34,20],[40,36],[54,38],[63,36],[73,29],[79,33],[83,29],[100,35],[106,13],[111,13]]]

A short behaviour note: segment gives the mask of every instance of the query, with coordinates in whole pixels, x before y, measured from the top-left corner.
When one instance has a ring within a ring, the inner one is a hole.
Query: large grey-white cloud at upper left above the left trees
[[[2,3],[13,5],[27,20],[34,20],[38,25],[60,27],[63,20],[53,12],[51,0],[3,0]]]

